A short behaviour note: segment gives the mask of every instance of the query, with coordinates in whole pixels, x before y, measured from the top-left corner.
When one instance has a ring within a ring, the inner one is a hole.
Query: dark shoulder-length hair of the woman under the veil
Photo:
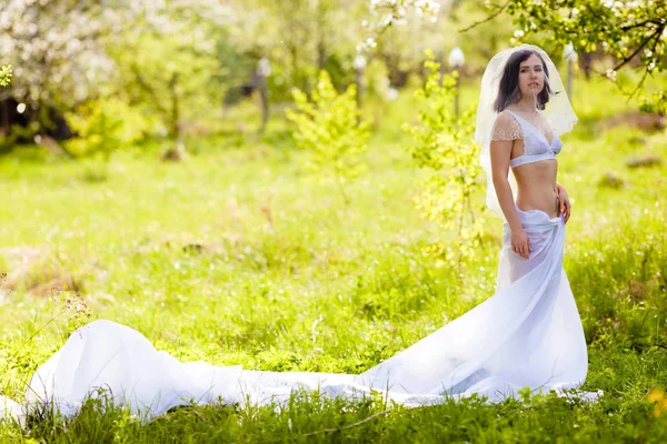
[[[500,85],[498,87],[498,97],[494,103],[494,111],[501,112],[512,103],[518,102],[521,99],[521,90],[519,89],[519,71],[521,62],[525,62],[530,56],[537,56],[542,62],[542,69],[545,71],[545,83],[542,90],[537,94],[537,108],[539,110],[545,109],[545,104],[549,101],[549,94],[554,91],[549,85],[549,70],[547,63],[541,56],[530,49],[522,49],[512,53],[502,70],[502,77],[500,78]]]

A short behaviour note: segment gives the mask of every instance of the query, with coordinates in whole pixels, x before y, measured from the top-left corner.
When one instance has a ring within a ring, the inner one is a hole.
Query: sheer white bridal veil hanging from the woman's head
[[[525,49],[529,49],[539,53],[547,64],[547,70],[549,73],[548,83],[551,87],[554,94],[549,97],[549,101],[546,104],[544,114],[547,118],[547,122],[554,130],[554,133],[560,135],[571,131],[578,120],[577,114],[575,114],[569,99],[567,98],[567,92],[565,91],[563,80],[558,74],[556,65],[541,48],[534,44],[521,44],[520,47],[502,50],[494,56],[481,78],[479,104],[477,107],[475,141],[481,148],[481,152],[479,154],[480,163],[487,174],[486,204],[489,210],[491,210],[491,212],[499,218],[505,218],[505,214],[500,209],[498,196],[496,195],[496,190],[494,188],[490,155],[491,131],[494,129],[496,117],[498,115],[497,112],[494,111],[494,102],[498,95],[498,87],[500,84],[500,78],[502,77],[505,63],[512,53]],[[509,184],[511,186],[512,195],[516,199],[517,182],[514,173],[509,175]]]

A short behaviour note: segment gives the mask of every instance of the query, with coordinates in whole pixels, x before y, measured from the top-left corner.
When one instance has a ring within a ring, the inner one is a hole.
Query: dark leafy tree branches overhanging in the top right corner
[[[667,68],[665,0],[507,0],[489,8],[490,14],[484,21],[504,12],[514,17],[519,27],[517,42],[544,32],[558,47],[571,42],[577,52],[601,51],[614,57],[616,63],[604,73],[613,81],[618,70],[638,62],[643,74],[631,91],[625,91],[629,98],[643,90],[648,75]],[[664,115],[664,91],[646,94],[641,109]]]

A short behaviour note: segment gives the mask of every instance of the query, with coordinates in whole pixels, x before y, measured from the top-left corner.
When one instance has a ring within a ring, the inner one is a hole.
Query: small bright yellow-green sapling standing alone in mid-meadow
[[[339,94],[326,71],[321,71],[311,100],[298,89],[292,91],[297,111],[287,110],[287,118],[296,124],[295,140],[308,151],[310,168],[331,173],[344,185],[366,168],[360,154],[366,150],[370,122],[357,105],[357,87],[350,84]]]

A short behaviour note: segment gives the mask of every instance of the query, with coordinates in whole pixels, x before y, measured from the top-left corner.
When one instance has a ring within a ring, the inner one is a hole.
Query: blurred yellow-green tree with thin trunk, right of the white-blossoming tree
[[[216,0],[171,1],[133,7],[131,27],[109,46],[117,62],[117,92],[153,115],[182,149],[187,117],[201,118],[221,103],[219,29],[231,10]]]

